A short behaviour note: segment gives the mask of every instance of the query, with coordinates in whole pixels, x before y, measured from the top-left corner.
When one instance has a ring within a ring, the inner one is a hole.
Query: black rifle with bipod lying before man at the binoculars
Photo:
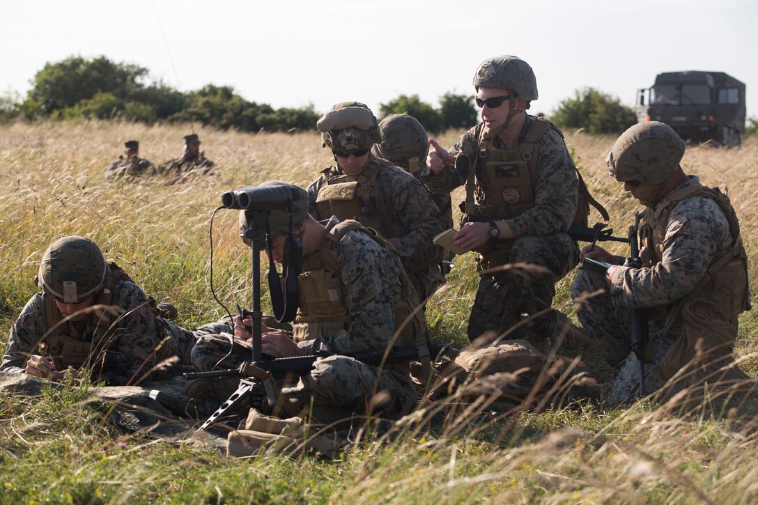
[[[429,344],[432,356],[439,356],[449,349],[447,345]],[[394,365],[402,362],[411,362],[418,359],[415,349],[399,350],[393,348],[390,353],[374,351],[372,353],[359,353],[343,355],[352,357],[367,365],[383,366]],[[200,430],[208,428],[216,419],[240,406],[246,400],[251,407],[261,409],[263,412],[271,412],[277,404],[276,385],[274,377],[286,377],[288,375],[304,375],[308,373],[317,359],[325,356],[308,355],[294,356],[290,358],[275,358],[253,362],[243,362],[238,369],[216,370],[213,372],[193,372],[183,374],[185,380],[196,378],[240,378],[240,385],[236,391],[216,409],[205,421]]]

